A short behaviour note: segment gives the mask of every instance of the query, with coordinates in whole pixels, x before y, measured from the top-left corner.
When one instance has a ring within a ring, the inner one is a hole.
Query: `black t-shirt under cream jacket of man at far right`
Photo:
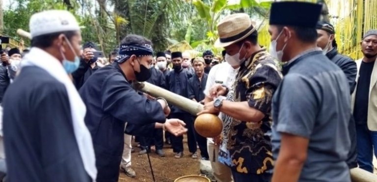
[[[355,105],[353,117],[357,124],[367,123],[368,103],[369,103],[369,86],[371,83],[371,75],[375,62],[361,62],[359,78],[357,80],[357,88],[355,95]]]

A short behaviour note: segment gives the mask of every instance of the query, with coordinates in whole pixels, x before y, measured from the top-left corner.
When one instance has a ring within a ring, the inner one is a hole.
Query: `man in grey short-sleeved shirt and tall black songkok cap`
[[[270,54],[284,62],[272,99],[272,182],[350,182],[347,77],[317,47],[322,5],[271,6]]]

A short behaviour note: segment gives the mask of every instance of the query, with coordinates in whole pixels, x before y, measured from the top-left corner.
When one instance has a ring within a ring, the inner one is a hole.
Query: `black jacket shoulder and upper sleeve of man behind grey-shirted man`
[[[333,63],[338,65],[339,68],[343,70],[344,74],[346,74],[348,83],[350,85],[350,93],[352,94],[356,87],[356,63],[350,57],[339,54],[338,49],[336,47],[332,48],[329,52],[327,52],[326,56]]]

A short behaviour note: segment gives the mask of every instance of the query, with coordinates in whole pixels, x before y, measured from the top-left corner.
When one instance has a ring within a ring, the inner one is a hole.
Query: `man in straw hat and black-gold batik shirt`
[[[225,47],[225,60],[240,69],[230,88],[221,84],[211,88],[214,101],[206,103],[199,114],[222,113],[218,160],[231,168],[235,182],[269,182],[273,168],[271,98],[281,73],[266,49],[258,45],[258,32],[247,14],[229,15],[217,29],[215,46]]]

